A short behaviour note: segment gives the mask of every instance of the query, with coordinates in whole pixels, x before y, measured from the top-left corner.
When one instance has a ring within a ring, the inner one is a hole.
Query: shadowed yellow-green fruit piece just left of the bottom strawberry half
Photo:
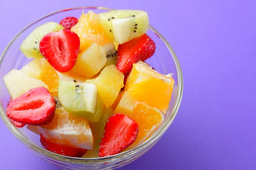
[[[88,150],[88,152],[83,156],[83,158],[97,158],[99,157],[99,144],[101,142],[103,133],[104,133],[104,127],[106,125],[106,122],[110,116],[113,115],[112,108],[104,109],[102,116],[99,119],[99,122],[92,122],[90,123],[90,128],[93,133],[94,137],[94,143],[93,143],[93,149]]]

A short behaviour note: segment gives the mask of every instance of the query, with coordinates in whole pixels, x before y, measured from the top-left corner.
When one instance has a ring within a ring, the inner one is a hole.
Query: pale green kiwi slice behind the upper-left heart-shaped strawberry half
[[[49,32],[60,31],[61,29],[64,29],[63,26],[54,22],[48,22],[35,28],[21,43],[20,51],[22,51],[27,58],[42,58],[43,56],[39,51],[40,41]]]

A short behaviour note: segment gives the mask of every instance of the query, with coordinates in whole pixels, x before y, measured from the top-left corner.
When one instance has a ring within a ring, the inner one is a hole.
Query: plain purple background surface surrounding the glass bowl
[[[183,71],[180,110],[163,138],[121,168],[256,169],[255,0],[1,0],[0,53],[33,20],[73,6],[148,11]],[[58,170],[0,121],[0,169]]]

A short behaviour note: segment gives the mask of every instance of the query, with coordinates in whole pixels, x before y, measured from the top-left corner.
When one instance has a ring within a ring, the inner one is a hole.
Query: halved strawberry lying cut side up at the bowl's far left
[[[46,125],[55,113],[55,100],[44,87],[33,88],[17,97],[6,109],[6,115],[19,123]]]

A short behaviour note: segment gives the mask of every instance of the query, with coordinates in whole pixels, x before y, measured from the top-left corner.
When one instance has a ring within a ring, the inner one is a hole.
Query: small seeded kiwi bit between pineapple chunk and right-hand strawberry
[[[105,49],[106,51],[106,57],[107,57],[107,62],[104,67],[107,67],[108,65],[116,65],[117,62],[117,51],[116,47],[112,42],[109,42],[107,44],[101,45],[102,48]]]

